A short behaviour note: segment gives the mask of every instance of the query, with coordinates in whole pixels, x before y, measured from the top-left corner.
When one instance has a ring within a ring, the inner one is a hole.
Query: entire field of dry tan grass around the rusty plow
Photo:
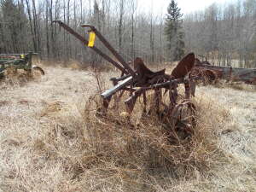
[[[44,69],[0,82],[0,191],[256,191],[255,89],[198,87],[195,135],[170,144],[140,104],[137,129],[122,104],[96,117],[114,72]]]

